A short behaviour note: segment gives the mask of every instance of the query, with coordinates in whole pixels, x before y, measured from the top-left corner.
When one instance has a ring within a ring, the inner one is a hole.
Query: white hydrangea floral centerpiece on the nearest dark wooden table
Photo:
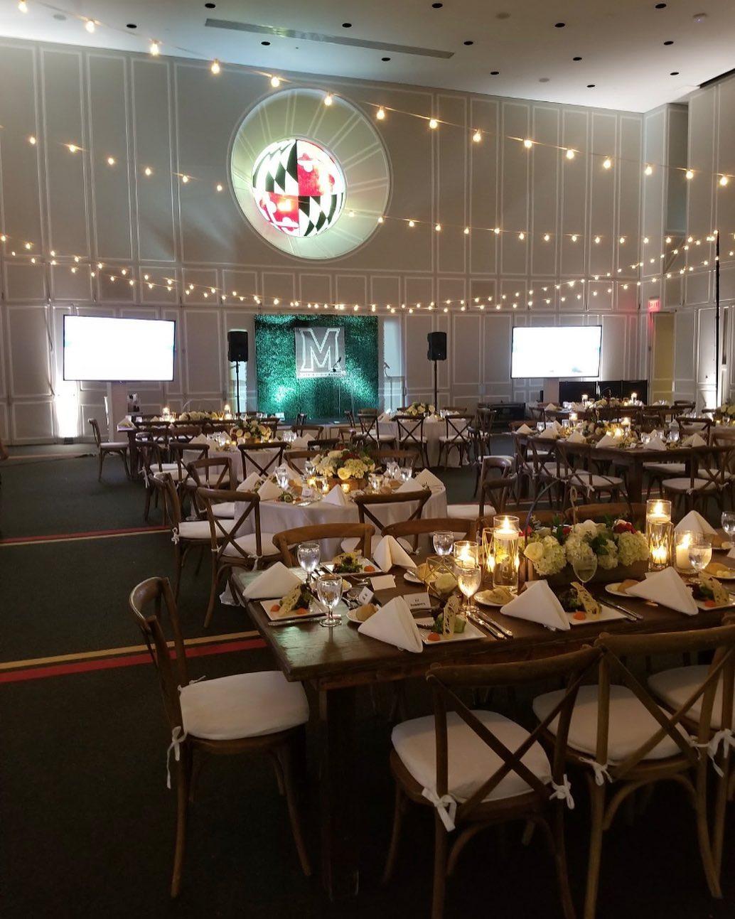
[[[598,581],[623,580],[633,576],[630,569],[642,577],[649,559],[645,534],[627,520],[610,519],[606,523],[585,520],[573,525],[556,523],[542,527],[532,518],[525,537],[524,555],[532,568],[530,576],[535,573],[558,584],[573,580],[572,562],[585,557],[597,557],[595,580]]]

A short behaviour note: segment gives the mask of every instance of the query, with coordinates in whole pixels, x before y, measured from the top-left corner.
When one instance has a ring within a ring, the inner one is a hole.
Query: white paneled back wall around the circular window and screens
[[[313,76],[290,79],[326,85]],[[59,411],[68,418],[61,316],[69,311],[177,320],[174,382],[131,388],[148,410],[162,403],[219,405],[228,391],[227,331],[253,331],[253,311],[233,290],[287,302],[378,303],[380,316],[401,323],[396,375],[405,379],[406,400],[432,395],[426,334],[433,330],[449,336],[440,403],[536,398],[541,380],[510,378],[513,323],[603,323],[603,373],[645,372],[638,276],[617,242],[624,235],[627,251],[638,250],[642,116],[423,87],[335,86],[330,79],[332,91],[368,114],[366,103],[377,98],[392,109],[379,123],[392,174],[387,213],[424,222],[409,230],[404,221],[388,220],[353,253],[316,263],[266,244],[244,221],[229,187],[233,131],[270,92],[261,76],[228,66],[214,80],[199,62],[3,40],[0,85],[0,219],[8,235],[0,248],[0,436],[10,442],[68,433]],[[401,111],[435,114],[458,127],[427,131],[424,120]],[[471,142],[477,127],[485,132],[480,144]],[[31,134],[38,138],[33,147]],[[551,147],[526,151],[504,140],[507,134],[609,154],[618,167],[595,170],[587,156],[566,161]],[[70,142],[81,150],[69,153]],[[115,157],[114,167],[107,156]],[[183,172],[193,176],[187,186],[172,176]],[[225,186],[220,194],[218,182]],[[437,221],[441,233],[433,230]],[[473,231],[466,235],[468,225]],[[514,232],[496,235],[494,226]],[[548,243],[543,233],[551,234]],[[580,234],[576,243],[572,233]],[[594,233],[601,244],[585,235]],[[47,263],[53,250],[59,264],[32,265],[31,255],[16,248],[19,241],[31,242],[32,254]],[[74,255],[82,260],[76,272]],[[106,268],[90,277],[97,261]],[[556,287],[562,279],[605,278],[608,271],[628,278],[628,291],[619,284],[608,294],[605,280],[573,291]],[[169,277],[177,282],[171,292],[163,285]],[[189,283],[198,287],[183,297]],[[209,287],[226,291],[227,299],[205,297]],[[484,312],[475,297],[492,297]],[[453,304],[445,313],[447,300]],[[435,309],[425,311],[432,301]],[[466,301],[465,312],[458,301]],[[416,303],[422,309],[412,314]],[[247,387],[252,406],[252,351]],[[104,386],[80,388],[79,431],[85,418],[102,412],[103,396]]]

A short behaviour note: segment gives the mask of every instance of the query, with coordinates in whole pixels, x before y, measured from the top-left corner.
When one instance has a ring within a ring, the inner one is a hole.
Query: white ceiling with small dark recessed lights
[[[218,58],[268,73],[292,70],[631,111],[680,100],[735,66],[732,0],[669,0],[663,9],[655,8],[656,0],[444,0],[439,9],[432,2],[216,0],[216,8],[207,9],[204,0],[28,0],[23,14],[17,0],[4,0],[0,34],[125,51],[147,51],[157,39],[164,54]],[[701,13],[707,17],[696,22]],[[100,25],[89,34],[76,17]],[[208,17],[311,38],[208,28]],[[555,28],[558,22],[564,28]],[[345,39],[380,47],[339,43]],[[468,40],[473,44],[466,46]],[[452,56],[386,50],[385,43]]]

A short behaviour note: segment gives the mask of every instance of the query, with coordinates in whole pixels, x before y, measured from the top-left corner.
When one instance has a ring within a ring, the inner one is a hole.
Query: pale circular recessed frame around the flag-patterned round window
[[[228,154],[232,191],[254,232],[279,251],[310,260],[339,258],[366,244],[390,200],[390,160],[375,125],[342,96],[334,96],[331,106],[324,105],[324,96],[323,90],[308,87],[266,96],[238,123]],[[342,213],[318,235],[284,233],[254,200],[255,161],[269,144],[289,139],[321,147],[345,177]]]

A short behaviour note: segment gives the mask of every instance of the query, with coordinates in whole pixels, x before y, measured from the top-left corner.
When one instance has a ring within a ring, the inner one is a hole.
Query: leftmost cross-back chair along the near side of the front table
[[[539,825],[550,844],[565,919],[574,908],[567,876],[564,810],[573,806],[565,775],[566,734],[579,687],[594,673],[599,652],[591,648],[518,664],[433,664],[426,677],[434,716],[393,729],[390,769],[396,783],[395,816],[383,881],[390,879],[406,803],[433,807],[434,885],[432,919],[444,913],[445,888],[464,846],[485,826],[525,820]],[[459,693],[476,687],[522,686],[566,681],[548,717],[527,732],[503,715],[469,709]],[[549,761],[539,740],[559,720]]]

